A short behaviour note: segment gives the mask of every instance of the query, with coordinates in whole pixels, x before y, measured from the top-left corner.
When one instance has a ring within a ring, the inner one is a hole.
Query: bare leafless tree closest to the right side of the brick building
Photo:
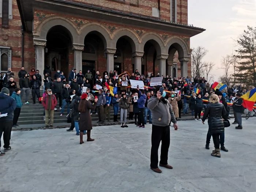
[[[191,52],[191,72],[193,78],[201,77],[203,75],[204,63],[203,58],[206,56],[208,50],[206,48],[198,46],[195,49],[192,49]]]

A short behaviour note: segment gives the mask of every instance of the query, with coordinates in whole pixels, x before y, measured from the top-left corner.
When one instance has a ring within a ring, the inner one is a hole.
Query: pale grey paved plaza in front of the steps
[[[233,122],[233,120],[231,120]],[[169,164],[150,170],[151,125],[94,127],[94,142],[79,144],[65,129],[12,132],[0,157],[1,192],[255,192],[256,118],[226,128],[221,158],[206,150],[208,125],[178,121],[171,128]],[[2,140],[3,142],[3,140]],[[3,150],[3,147],[1,147]],[[160,153],[160,150],[159,150]],[[160,157],[159,157],[160,158]]]

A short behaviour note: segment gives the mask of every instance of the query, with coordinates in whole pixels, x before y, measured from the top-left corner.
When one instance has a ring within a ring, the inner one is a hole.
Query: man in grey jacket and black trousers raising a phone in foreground
[[[155,88],[153,97],[148,99],[147,108],[152,112],[152,135],[151,135],[151,163],[150,169],[156,173],[162,173],[158,168],[158,148],[162,140],[161,147],[161,159],[159,162],[160,167],[172,169],[173,167],[168,165],[168,150],[170,146],[170,124],[173,122],[174,130],[178,129],[177,121],[175,119],[172,106],[169,101],[165,99],[165,91],[163,94],[160,93],[160,87]]]

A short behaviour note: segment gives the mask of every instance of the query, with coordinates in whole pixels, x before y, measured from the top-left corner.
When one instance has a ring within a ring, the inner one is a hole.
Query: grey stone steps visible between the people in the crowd
[[[42,95],[42,91],[41,91]],[[30,93],[29,95],[29,103],[30,104],[23,104],[21,111],[20,111],[20,116],[18,120],[19,125],[31,125],[31,124],[44,124],[44,108],[42,104],[39,104],[38,99],[36,99],[36,104],[32,104],[33,101],[31,99],[32,94]],[[22,99],[22,102],[25,103],[25,99]],[[59,101],[57,104],[57,110],[54,111],[54,124],[56,123],[67,123],[67,106],[64,110],[63,116],[60,116],[60,111],[59,110]],[[182,112],[181,112],[182,113]],[[233,109],[230,107],[230,115],[233,116]],[[113,107],[111,108],[111,114],[110,118],[113,121],[113,116],[114,116],[114,110]],[[128,114],[127,114],[128,116]],[[191,118],[191,110],[188,109],[188,114],[181,114],[181,117],[187,117]],[[98,116],[93,114],[91,115],[92,121],[98,121]],[[181,118],[181,120],[182,120]],[[118,119],[120,119],[120,116],[118,115]]]

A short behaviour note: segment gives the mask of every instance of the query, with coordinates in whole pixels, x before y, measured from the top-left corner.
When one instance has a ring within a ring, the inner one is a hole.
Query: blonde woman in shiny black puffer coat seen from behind
[[[214,142],[215,150],[212,151],[212,156],[221,157],[221,153],[219,151],[220,144],[220,134],[224,132],[224,122],[223,118],[225,118],[226,110],[222,103],[219,102],[219,97],[216,94],[212,94],[209,99],[209,104],[204,112],[204,116],[202,118],[202,123],[208,117],[208,126],[209,131],[211,132],[212,139]]]

